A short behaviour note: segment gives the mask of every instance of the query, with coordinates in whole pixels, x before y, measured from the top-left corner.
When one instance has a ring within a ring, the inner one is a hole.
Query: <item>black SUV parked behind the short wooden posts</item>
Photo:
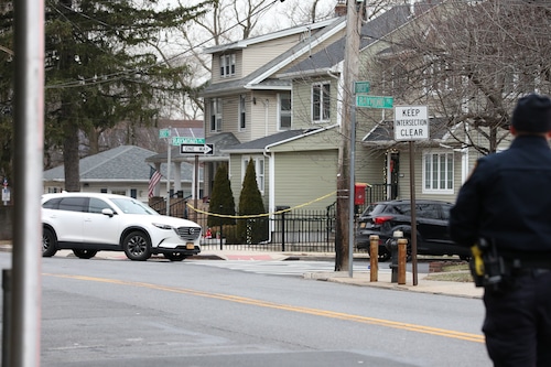
[[[415,201],[417,253],[457,255],[463,260],[471,258],[471,249],[455,245],[449,235],[447,223],[453,204],[440,201]],[[379,261],[391,257],[386,242],[395,230],[408,239],[411,253],[411,202],[388,201],[370,204],[357,220],[356,247],[369,252],[369,237],[379,236]]]

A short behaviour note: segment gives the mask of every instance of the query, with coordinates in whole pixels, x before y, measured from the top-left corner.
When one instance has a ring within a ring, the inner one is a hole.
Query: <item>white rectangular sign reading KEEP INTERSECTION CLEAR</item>
[[[395,140],[429,139],[429,109],[426,106],[395,107]]]

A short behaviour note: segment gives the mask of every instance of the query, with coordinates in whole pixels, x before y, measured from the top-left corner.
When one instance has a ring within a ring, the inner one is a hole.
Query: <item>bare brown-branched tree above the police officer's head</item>
[[[379,53],[377,87],[401,102],[429,105],[461,147],[495,152],[519,96],[551,90],[550,15],[548,2],[443,3]]]

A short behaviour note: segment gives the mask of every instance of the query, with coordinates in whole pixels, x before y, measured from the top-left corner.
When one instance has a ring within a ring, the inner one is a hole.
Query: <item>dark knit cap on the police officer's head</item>
[[[520,98],[512,111],[511,123],[521,132],[551,131],[551,99],[538,94]]]

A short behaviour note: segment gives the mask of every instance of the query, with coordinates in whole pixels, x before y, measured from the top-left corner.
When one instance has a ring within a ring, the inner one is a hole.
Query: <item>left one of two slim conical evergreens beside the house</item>
[[[228,216],[236,215],[236,203],[234,199],[234,193],[231,192],[231,184],[229,182],[228,168],[226,164],[220,164],[216,170],[208,207],[208,212],[210,213]],[[209,215],[207,219],[208,227],[235,224],[236,220],[233,217],[218,217]]]

